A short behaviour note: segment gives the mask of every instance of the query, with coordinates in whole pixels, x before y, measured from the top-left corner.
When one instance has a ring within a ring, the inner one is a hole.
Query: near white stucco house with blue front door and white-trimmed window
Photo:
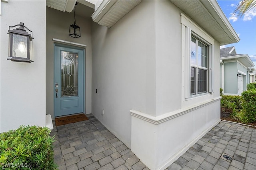
[[[92,113],[164,169],[220,121],[220,45],[239,37],[215,0],[78,1],[76,39],[74,11],[60,11],[76,1],[54,2],[1,2],[1,132]],[[33,31],[33,63],[6,60],[8,27],[20,22]]]

